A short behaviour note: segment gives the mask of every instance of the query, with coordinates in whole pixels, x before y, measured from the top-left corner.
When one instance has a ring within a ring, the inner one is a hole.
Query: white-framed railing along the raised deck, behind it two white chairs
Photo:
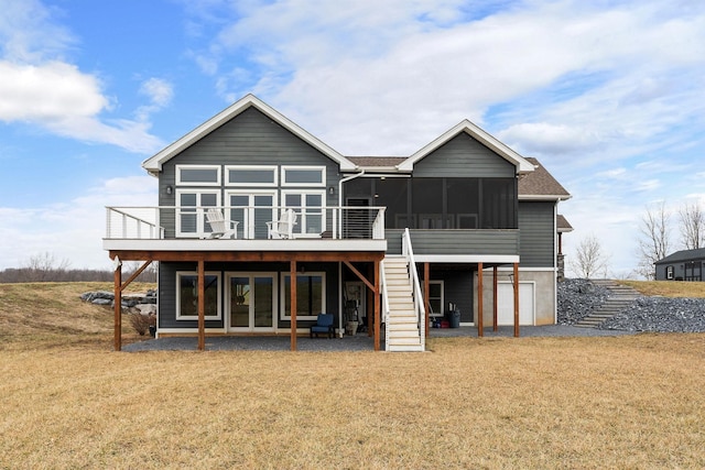
[[[106,239],[188,239],[212,233],[206,212],[221,210],[237,226],[238,240],[265,240],[268,222],[294,210],[294,239],[384,239],[383,207],[107,207]],[[230,227],[232,226],[230,225]]]

